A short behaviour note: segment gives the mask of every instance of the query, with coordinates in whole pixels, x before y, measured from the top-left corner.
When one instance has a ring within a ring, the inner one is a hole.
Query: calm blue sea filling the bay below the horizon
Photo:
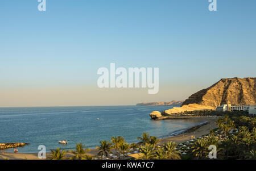
[[[196,120],[150,119],[150,112],[173,106],[92,106],[92,107],[15,107],[0,108],[0,143],[29,143],[19,152],[36,153],[38,145],[47,151],[57,147],[73,149],[76,143],[94,148],[100,140],[123,136],[129,143],[150,132],[168,136],[198,124]],[[99,120],[97,120],[99,118]],[[59,140],[67,139],[67,145]],[[11,149],[10,151],[13,151]]]

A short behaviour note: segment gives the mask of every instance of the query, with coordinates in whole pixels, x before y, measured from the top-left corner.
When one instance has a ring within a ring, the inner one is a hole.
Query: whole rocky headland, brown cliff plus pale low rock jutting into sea
[[[217,106],[253,105],[256,103],[256,78],[222,78],[207,89],[198,91],[186,99],[181,107],[162,112],[153,111],[150,116],[155,120],[182,119],[192,115],[187,111],[215,110]]]

